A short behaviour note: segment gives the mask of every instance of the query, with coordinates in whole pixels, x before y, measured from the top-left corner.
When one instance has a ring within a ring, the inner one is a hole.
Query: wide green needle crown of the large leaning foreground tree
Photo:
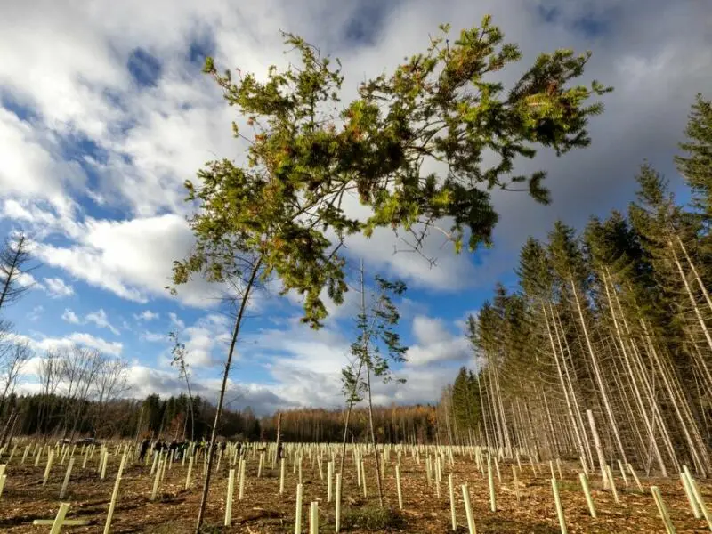
[[[587,119],[603,110],[588,101],[611,89],[570,85],[590,54],[560,50],[539,55],[506,93],[491,75],[521,53],[503,44],[490,17],[452,42],[448,34],[441,26],[425,53],[360,85],[346,105],[341,64],[301,37],[284,34],[300,61],[284,71],[272,66],[264,81],[220,74],[209,58],[205,72],[247,122],[248,134],[233,124],[248,143],[247,163],[216,160],[198,182],[186,182],[198,206],[190,219],[197,246],[174,263],[174,283],[198,272],[214,281],[248,278],[238,259],[259,260],[259,279],[276,275],[284,293],[304,295],[303,321],[319,328],[323,291],[341,303],[347,290],[339,254],[347,235],[403,229],[417,249],[447,220],[440,230],[456,251],[465,240],[474,250],[490,244],[497,223],[489,190],[525,182],[523,190],[546,203],[545,174],[514,175],[515,159],[542,146],[558,154],[586,146]],[[485,166],[485,154],[498,161]],[[370,209],[367,220],[345,208],[353,193]]]

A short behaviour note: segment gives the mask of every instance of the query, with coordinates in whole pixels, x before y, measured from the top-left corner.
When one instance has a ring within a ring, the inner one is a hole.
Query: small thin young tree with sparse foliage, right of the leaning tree
[[[360,312],[356,320],[358,335],[351,345],[352,362],[342,369],[342,382],[346,394],[346,420],[344,422],[344,442],[341,449],[341,467],[344,472],[344,457],[346,454],[346,432],[349,426],[352,407],[356,402],[363,401],[366,395],[368,401],[368,430],[376,461],[376,481],[378,482],[378,501],[384,506],[384,495],[381,481],[381,470],[376,448],[376,431],[373,423],[373,395],[371,390],[371,375],[384,383],[392,380],[391,363],[406,361],[407,347],[401,345],[401,336],[395,331],[401,319],[398,308],[392,302],[392,296],[403,295],[406,285],[401,281],[390,282],[376,276],[376,294],[368,299],[364,280],[363,262],[360,266]],[[368,303],[368,300],[371,302]],[[356,367],[356,372],[353,371]],[[366,369],[365,376],[363,369]],[[404,383],[405,379],[398,379]]]

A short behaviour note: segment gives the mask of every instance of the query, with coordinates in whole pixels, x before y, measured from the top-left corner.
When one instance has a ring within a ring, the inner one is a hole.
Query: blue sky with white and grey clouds
[[[263,76],[284,65],[279,30],[305,37],[344,66],[344,94],[425,50],[442,22],[454,30],[490,13],[523,59],[591,50],[585,80],[613,85],[590,124],[593,142],[562,158],[542,152],[518,170],[548,173],[550,206],[496,192],[495,246],[455,255],[433,236],[425,255],[394,252],[390,231],[351,239],[347,254],[370,274],[409,286],[400,332],[406,384],[375,387],[379,403],[433,402],[461,365],[472,365],[464,321],[499,280],[515,284],[519,247],[556,219],[578,229],[591,214],[625,209],[647,159],[683,200],[672,157],[694,94],[712,95],[712,10],[693,0],[125,0],[9,2],[0,18],[0,233],[22,229],[39,267],[32,289],[7,310],[40,355],[84,344],[130,364],[129,395],[182,391],[166,334],[179,330],[195,391],[216,396],[231,319],[220,289],[195,280],[173,297],[172,262],[193,244],[182,184],[206,161],[244,157],[231,135],[235,110],[200,73]],[[246,4],[246,5],[242,5]],[[249,6],[247,6],[249,4]],[[260,295],[238,344],[227,400],[258,413],[343,403],[340,368],[353,339],[355,293],[325,328],[299,324],[294,298]],[[30,362],[20,391],[32,391]]]

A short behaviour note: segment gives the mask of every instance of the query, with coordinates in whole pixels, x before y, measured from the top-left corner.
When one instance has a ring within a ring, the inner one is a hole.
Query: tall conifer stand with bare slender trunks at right
[[[604,454],[712,474],[712,104],[698,95],[675,158],[692,201],[643,164],[625,213],[523,245],[517,287],[468,320],[476,372],[443,392],[450,442],[595,465]]]

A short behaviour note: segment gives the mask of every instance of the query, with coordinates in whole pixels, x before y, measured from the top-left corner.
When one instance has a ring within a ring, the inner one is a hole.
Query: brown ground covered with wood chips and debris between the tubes
[[[0,497],[0,531],[7,534],[25,532],[48,532],[48,526],[33,526],[34,519],[53,518],[60,504],[59,493],[64,480],[65,465],[58,461],[46,485],[42,484],[44,460],[34,467],[34,459],[28,458],[20,465],[20,457],[12,458],[7,466],[7,481]],[[5,456],[3,461],[6,461]],[[69,481],[68,494],[63,499],[69,502],[68,519],[86,519],[92,523],[85,527],[65,527],[62,532],[101,532],[106,520],[109,500],[114,487],[119,457],[109,457],[109,468],[104,481],[97,473],[98,455],[95,455],[82,469],[82,458],[78,457]],[[409,454],[401,457],[401,480],[403,489],[403,510],[390,517],[390,526],[376,527],[383,521],[377,514],[377,487],[373,457],[367,457],[368,498],[357,486],[356,473],[351,455],[347,455],[344,467],[343,528],[350,533],[390,531],[407,533],[444,533],[451,531],[448,473],[446,464],[442,475],[440,497],[435,487],[429,487],[425,475],[425,458],[420,465]],[[207,506],[206,532],[247,532],[247,533],[293,533],[295,531],[295,487],[296,475],[287,460],[285,493],[279,495],[279,466],[263,470],[257,478],[257,459],[248,455],[245,496],[238,500],[238,487],[232,505],[232,526],[223,527],[225,494],[227,488],[227,467],[223,462],[220,472],[214,477]],[[398,508],[395,482],[395,455],[386,467],[384,498],[387,506]],[[659,486],[663,499],[678,533],[706,532],[707,523],[694,519],[679,478],[668,480],[644,479],[644,492],[631,486],[624,487],[619,473],[614,473],[619,487],[620,503],[616,504],[610,491],[603,491],[600,482],[591,481],[592,494],[598,512],[593,519],[588,513],[586,501],[578,483],[578,465],[563,463],[563,480],[560,481],[562,506],[570,534],[597,532],[665,532],[650,492],[651,485]],[[158,489],[158,499],[150,501],[153,477],[150,465],[130,465],[121,481],[111,532],[147,532],[151,534],[191,533],[200,499],[202,465],[194,469],[194,481],[190,490],[184,490],[185,466],[174,464],[166,470],[166,478]],[[324,463],[325,480],[320,480],[316,461],[313,465],[309,457],[303,460],[303,523],[302,531],[309,530],[309,503],[319,501],[320,532],[334,531],[334,505],[327,504],[327,465]],[[460,485],[467,482],[473,501],[473,515],[478,534],[514,532],[556,534],[560,532],[552,495],[549,466],[541,465],[535,476],[528,463],[522,464],[518,472],[520,480],[520,501],[517,503],[514,490],[512,466],[500,464],[501,483],[495,476],[497,488],[497,512],[490,512],[490,497],[486,473],[477,469],[468,455],[455,456],[452,469],[456,485],[457,531],[466,532],[465,507]],[[630,479],[630,477],[628,477]],[[236,479],[237,480],[237,479]],[[700,481],[699,481],[700,483]],[[336,488],[336,484],[335,484]],[[712,508],[712,484],[700,483],[704,500]]]

